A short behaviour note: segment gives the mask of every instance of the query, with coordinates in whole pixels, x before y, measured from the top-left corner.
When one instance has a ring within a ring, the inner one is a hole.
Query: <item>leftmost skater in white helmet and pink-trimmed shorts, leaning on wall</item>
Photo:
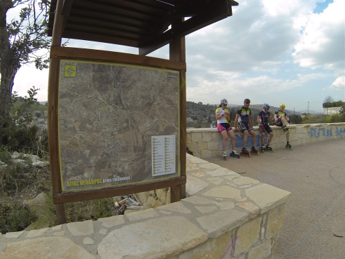
[[[233,128],[229,124],[230,122],[230,113],[227,109],[228,100],[222,99],[220,101],[219,107],[215,111],[217,119],[217,129],[223,137],[223,156],[226,157],[226,143],[228,142],[228,136],[230,137],[231,146],[233,148],[233,155],[237,156],[239,153],[235,151],[235,133]]]

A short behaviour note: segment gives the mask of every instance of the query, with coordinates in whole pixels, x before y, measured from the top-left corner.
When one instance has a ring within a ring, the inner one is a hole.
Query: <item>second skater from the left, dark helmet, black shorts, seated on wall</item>
[[[252,137],[252,148],[250,153],[257,155],[257,149],[255,148],[255,132],[253,129],[253,115],[250,111],[250,99],[244,99],[244,105],[237,110],[235,117],[235,131],[242,131],[243,137],[243,148],[241,153],[249,156],[249,152],[246,148],[247,139],[250,135]]]

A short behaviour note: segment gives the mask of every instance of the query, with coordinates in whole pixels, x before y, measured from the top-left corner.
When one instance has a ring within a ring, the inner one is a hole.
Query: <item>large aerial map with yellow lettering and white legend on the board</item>
[[[179,175],[179,71],[62,59],[63,191]]]

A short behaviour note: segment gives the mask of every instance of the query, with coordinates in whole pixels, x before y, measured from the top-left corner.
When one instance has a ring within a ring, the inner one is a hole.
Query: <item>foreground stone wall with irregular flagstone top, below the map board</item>
[[[288,191],[187,154],[186,192],[156,209],[6,233],[0,259],[273,257]]]

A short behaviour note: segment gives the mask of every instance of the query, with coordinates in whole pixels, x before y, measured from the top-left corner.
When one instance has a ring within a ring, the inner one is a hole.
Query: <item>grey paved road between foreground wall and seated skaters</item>
[[[344,139],[208,161],[292,193],[277,243],[278,258],[345,258]]]

